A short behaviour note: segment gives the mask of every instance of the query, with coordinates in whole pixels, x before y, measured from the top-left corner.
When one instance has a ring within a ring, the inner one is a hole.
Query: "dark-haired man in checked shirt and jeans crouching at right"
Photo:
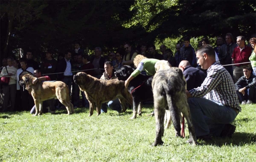
[[[196,57],[202,69],[207,69],[201,87],[186,91],[196,136],[231,137],[236,127],[229,123],[241,112],[231,75],[216,62],[212,46],[201,46]]]

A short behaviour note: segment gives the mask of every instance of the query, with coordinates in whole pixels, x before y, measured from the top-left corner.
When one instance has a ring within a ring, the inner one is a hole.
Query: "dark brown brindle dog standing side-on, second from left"
[[[96,105],[97,116],[100,114],[102,103],[119,98],[122,105],[122,112],[127,109],[126,103],[132,105],[132,97],[125,88],[125,82],[118,79],[99,80],[85,72],[78,72],[74,75],[74,81],[81,91],[84,91],[86,98],[90,103],[89,116],[93,115],[93,109]]]

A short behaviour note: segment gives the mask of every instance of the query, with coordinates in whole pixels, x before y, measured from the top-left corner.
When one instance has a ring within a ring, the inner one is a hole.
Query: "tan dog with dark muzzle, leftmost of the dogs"
[[[42,81],[32,85],[32,81],[36,78],[32,75],[26,74],[20,80],[20,85],[26,85],[26,89],[31,93],[35,101],[35,115],[42,114],[42,102],[55,98],[64,104],[67,108],[67,113],[74,113],[73,104],[69,100],[69,89],[62,81]]]

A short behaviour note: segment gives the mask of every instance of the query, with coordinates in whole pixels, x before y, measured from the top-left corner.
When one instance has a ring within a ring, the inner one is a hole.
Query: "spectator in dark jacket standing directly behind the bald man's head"
[[[184,46],[180,49],[180,61],[186,60],[189,61],[189,64],[192,67],[196,67],[196,59],[195,59],[195,49],[190,44],[190,38],[184,38]]]

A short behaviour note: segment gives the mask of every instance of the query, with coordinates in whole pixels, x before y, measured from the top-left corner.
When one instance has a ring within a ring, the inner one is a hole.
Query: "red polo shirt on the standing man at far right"
[[[244,48],[241,50],[238,46],[234,48],[231,58],[234,59],[234,64],[236,64],[235,66],[247,65],[249,63],[246,63],[246,64],[239,64],[239,63],[250,62],[249,57],[251,53],[252,51],[250,47],[244,46]]]

